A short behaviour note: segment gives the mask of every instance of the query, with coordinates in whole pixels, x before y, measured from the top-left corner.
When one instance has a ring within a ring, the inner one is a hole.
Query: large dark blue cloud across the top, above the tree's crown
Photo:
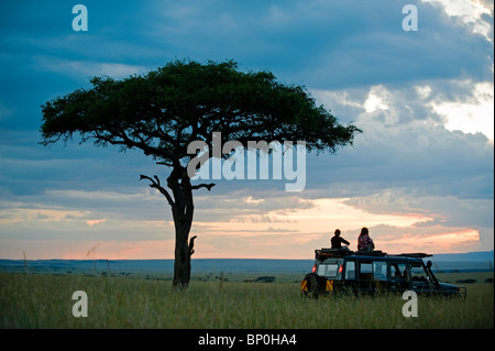
[[[317,89],[491,74],[490,42],[473,37],[442,8],[414,3],[420,21],[415,33],[403,31],[398,2],[315,0],[165,4],[146,35],[179,57],[224,59],[229,53],[246,68],[268,68]]]

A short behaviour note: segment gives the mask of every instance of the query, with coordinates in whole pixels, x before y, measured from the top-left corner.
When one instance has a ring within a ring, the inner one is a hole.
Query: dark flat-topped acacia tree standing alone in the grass
[[[278,83],[270,72],[240,72],[237,63],[172,62],[145,75],[121,80],[96,77],[90,89],[77,89],[42,106],[42,144],[72,140],[95,145],[140,149],[172,168],[166,186],[141,175],[167,199],[175,223],[174,287],[187,287],[194,240],[193,190],[215,184],[191,184],[188,153],[194,141],[212,150],[213,132],[222,141],[305,141],[308,151],[336,152],[352,144],[360,130],[342,125],[318,107],[300,86]],[[212,157],[212,154],[208,155]],[[208,157],[207,156],[207,157]],[[188,242],[189,240],[189,242]]]

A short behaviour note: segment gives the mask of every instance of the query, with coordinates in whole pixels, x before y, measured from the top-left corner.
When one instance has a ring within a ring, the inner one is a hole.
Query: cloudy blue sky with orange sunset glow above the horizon
[[[0,259],[173,259],[170,208],[139,182],[168,168],[139,151],[46,147],[40,127],[43,103],[91,77],[175,59],[270,70],[363,130],[308,153],[300,191],[197,190],[193,259],[312,259],[337,228],[356,250],[362,227],[388,253],[493,250],[493,29],[487,0],[1,1]]]

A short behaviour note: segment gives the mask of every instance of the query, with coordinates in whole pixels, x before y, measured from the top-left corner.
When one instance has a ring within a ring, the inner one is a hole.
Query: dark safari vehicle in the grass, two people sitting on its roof
[[[426,264],[426,253],[387,254],[382,251],[354,252],[343,249],[315,250],[315,266],[301,282],[305,295],[404,293],[466,296],[465,287],[440,283]]]

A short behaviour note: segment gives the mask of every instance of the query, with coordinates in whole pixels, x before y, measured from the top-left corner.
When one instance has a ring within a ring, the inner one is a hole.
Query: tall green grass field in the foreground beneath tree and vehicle
[[[448,277],[455,282],[455,276]],[[418,317],[406,318],[399,295],[315,300],[301,297],[299,283],[290,277],[277,283],[239,281],[198,278],[187,290],[176,292],[169,281],[144,276],[0,273],[0,327],[494,328],[493,283],[469,284],[465,300],[419,297]],[[88,295],[86,318],[72,314],[76,290]]]

